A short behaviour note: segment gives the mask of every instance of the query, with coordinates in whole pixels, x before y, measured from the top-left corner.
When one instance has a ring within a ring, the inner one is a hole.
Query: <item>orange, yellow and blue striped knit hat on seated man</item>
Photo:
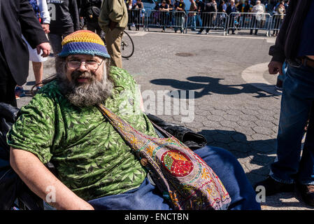
[[[59,57],[69,55],[93,55],[110,58],[104,41],[89,30],[79,30],[66,36],[62,41],[62,52]]]

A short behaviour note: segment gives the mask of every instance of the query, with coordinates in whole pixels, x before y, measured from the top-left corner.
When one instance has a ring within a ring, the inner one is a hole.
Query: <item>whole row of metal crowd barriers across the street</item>
[[[162,10],[129,10],[128,26],[135,25],[144,31],[150,28],[174,29],[187,33],[187,29],[199,31],[215,29],[228,34],[229,31],[248,29],[250,32],[266,31],[266,36],[278,33],[285,15],[269,13],[197,13]]]

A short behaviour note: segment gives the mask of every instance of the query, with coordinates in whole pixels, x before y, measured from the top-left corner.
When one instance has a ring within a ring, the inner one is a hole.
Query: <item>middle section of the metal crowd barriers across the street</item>
[[[227,13],[187,12],[185,32],[187,33],[187,29],[199,29],[199,31],[206,29],[206,32],[210,29],[225,31],[227,28],[227,16]]]

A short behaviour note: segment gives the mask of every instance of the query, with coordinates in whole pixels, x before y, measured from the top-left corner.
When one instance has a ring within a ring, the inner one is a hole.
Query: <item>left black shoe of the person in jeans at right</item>
[[[256,183],[254,186],[254,190],[257,190],[258,186],[264,186],[266,196],[294,191],[293,183],[279,183],[278,181],[272,179],[270,176],[266,180]]]

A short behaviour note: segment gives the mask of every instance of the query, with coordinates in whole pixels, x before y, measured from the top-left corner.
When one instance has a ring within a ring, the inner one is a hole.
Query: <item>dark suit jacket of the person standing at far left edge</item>
[[[23,85],[29,73],[29,52],[22,34],[31,48],[49,42],[28,0],[0,0],[0,53],[17,85]]]

